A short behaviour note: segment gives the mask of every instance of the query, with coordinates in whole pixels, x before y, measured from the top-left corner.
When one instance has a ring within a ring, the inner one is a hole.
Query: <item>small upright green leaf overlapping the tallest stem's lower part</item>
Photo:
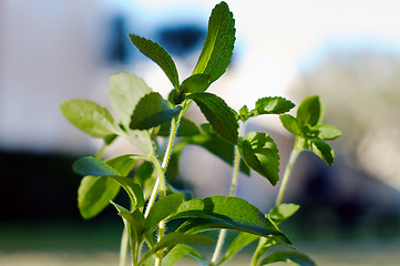
[[[174,213],[183,202],[184,194],[174,193],[160,198],[148,212],[148,216],[144,223],[144,227],[148,232],[153,232],[160,221],[166,218],[170,214]]]

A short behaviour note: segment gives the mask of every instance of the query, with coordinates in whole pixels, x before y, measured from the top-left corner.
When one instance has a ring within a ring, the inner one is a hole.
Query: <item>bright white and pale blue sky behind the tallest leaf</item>
[[[115,4],[115,1],[113,1]],[[206,24],[217,1],[119,0],[147,30],[173,20]],[[299,73],[335,48],[373,48],[400,53],[399,1],[227,1],[236,20],[237,65],[230,103],[286,94]],[[142,29],[143,30],[143,29]],[[141,31],[141,29],[139,29]],[[260,85],[261,84],[261,85]],[[246,90],[240,88],[246,86]],[[250,92],[250,93],[249,93]]]

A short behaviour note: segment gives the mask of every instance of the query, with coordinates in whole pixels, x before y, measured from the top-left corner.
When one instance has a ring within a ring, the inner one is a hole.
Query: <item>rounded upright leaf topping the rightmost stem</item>
[[[324,119],[324,105],[319,96],[308,96],[297,109],[297,122],[300,126],[319,124]]]

